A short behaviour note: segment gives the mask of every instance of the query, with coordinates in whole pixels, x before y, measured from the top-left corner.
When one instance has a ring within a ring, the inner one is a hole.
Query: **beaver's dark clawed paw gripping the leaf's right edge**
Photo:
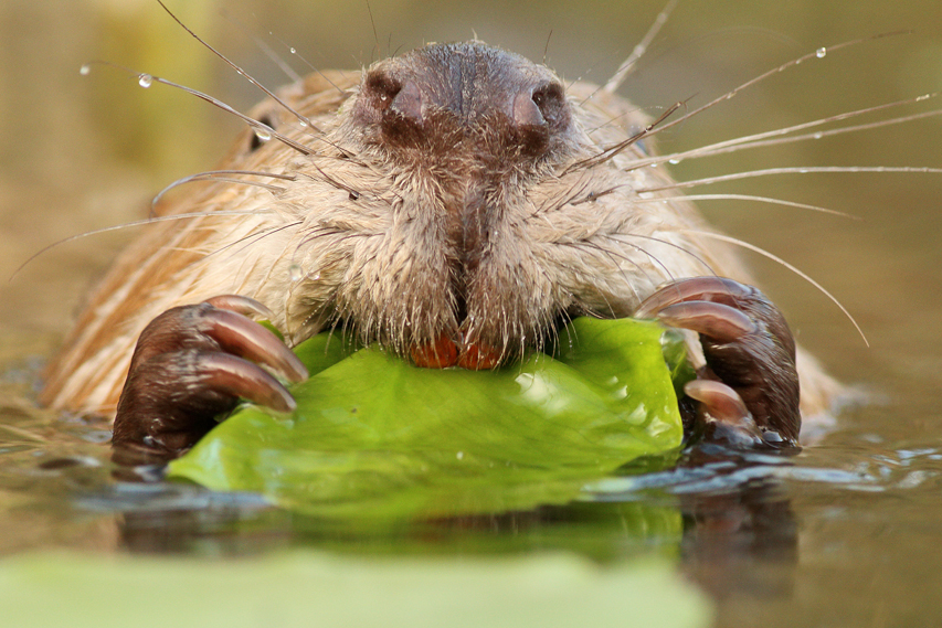
[[[705,436],[735,446],[796,445],[801,429],[795,341],[758,289],[721,277],[670,283],[638,307],[700,336],[707,365],[685,386]]]

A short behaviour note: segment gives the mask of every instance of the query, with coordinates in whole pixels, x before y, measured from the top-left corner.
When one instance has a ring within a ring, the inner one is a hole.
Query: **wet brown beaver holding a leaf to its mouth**
[[[699,337],[688,430],[796,446],[837,385],[613,92],[470,41],[273,94],[94,290],[43,402],[176,456],[240,397],[294,407],[268,371],[304,379],[288,347],[325,329],[491,369],[572,317],[636,316]]]

